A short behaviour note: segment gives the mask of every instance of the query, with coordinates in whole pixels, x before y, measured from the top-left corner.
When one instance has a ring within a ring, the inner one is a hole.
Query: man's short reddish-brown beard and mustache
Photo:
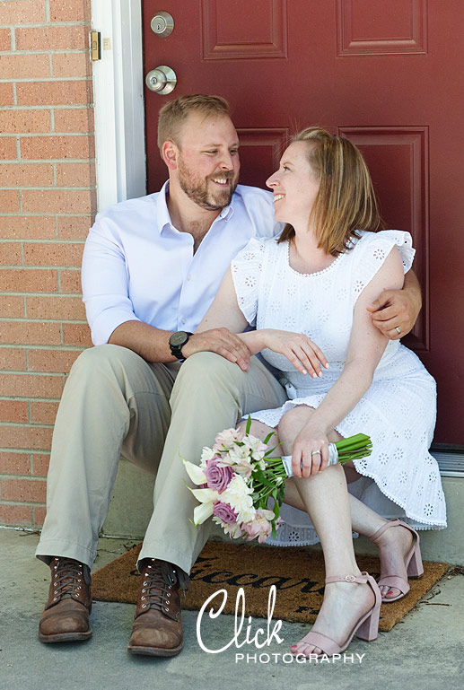
[[[221,173],[214,173],[208,175],[206,178],[195,176],[187,166],[184,165],[182,159],[179,159],[179,185],[188,198],[194,201],[201,208],[206,208],[207,211],[221,211],[224,206],[228,206],[232,201],[232,194],[237,188],[237,182],[233,181],[234,172],[227,170]],[[213,189],[209,185],[209,180],[213,179],[227,179],[231,180],[231,185],[227,188]]]

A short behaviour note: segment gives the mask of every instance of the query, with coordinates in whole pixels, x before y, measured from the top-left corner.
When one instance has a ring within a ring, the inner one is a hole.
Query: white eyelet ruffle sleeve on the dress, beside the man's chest
[[[239,307],[250,326],[256,326],[259,278],[266,245],[264,240],[250,240],[232,260],[232,280]]]

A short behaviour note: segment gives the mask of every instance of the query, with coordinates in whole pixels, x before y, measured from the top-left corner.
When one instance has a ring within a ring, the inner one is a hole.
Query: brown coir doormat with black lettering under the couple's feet
[[[119,556],[92,575],[94,599],[136,604],[140,584],[136,559],[140,548],[141,545],[134,546],[127,554]],[[375,579],[379,577],[378,558],[357,556],[356,560],[362,571],[369,572]],[[389,631],[397,624],[447,569],[447,563],[425,562],[423,577],[409,581],[411,590],[407,596],[382,605],[380,630]],[[274,584],[276,607],[273,618],[313,623],[324,593],[322,554],[302,548],[208,542],[198,556],[190,577],[187,598],[182,598],[182,607],[190,610],[199,610],[214,592],[227,590],[223,613],[233,614],[237,593],[242,587],[246,616],[267,618],[269,588]],[[217,596],[212,606],[217,610],[222,603],[223,597]]]

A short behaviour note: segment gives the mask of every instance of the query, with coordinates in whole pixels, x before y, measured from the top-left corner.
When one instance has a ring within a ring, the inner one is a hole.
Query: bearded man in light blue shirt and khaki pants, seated
[[[157,474],[128,649],[172,656],[183,645],[179,588],[209,530],[189,521],[195,500],[179,456],[198,463],[218,431],[286,396],[227,329],[192,335],[233,256],[251,237],[281,230],[270,194],[237,187],[228,104],[180,97],[162,108],[158,131],[168,183],[99,214],[85,245],[83,301],[97,347],[74,363],[57,413],[37,548],[52,572],[39,639],[92,634],[90,568],[122,453]],[[389,336],[398,336],[396,327],[407,333],[416,320],[414,275],[407,284],[372,306]]]

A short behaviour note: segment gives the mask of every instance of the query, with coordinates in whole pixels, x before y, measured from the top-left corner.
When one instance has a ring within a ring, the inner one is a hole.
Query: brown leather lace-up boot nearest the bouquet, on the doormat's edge
[[[179,587],[188,576],[177,566],[154,558],[145,562],[136,620],[127,646],[132,654],[173,657],[184,646]]]

